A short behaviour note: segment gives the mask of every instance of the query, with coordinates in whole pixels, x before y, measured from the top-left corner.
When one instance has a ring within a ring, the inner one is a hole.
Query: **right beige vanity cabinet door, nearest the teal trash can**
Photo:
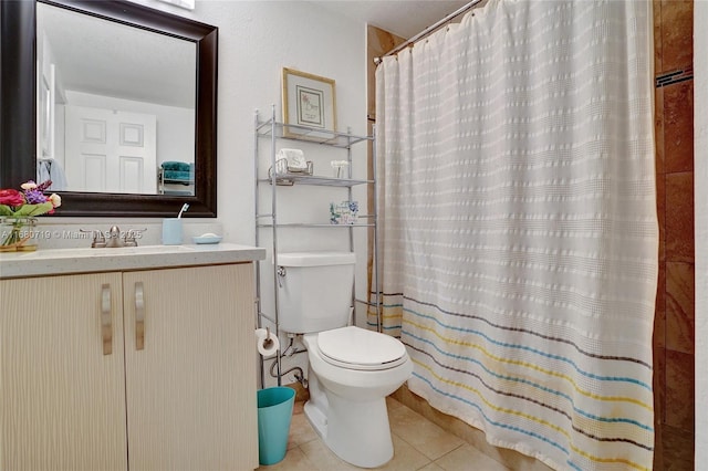
[[[252,263],[123,282],[131,471],[258,468]]]

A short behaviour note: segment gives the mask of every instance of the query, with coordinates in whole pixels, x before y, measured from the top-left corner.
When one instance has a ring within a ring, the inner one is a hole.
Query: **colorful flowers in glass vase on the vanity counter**
[[[28,243],[34,234],[35,216],[53,213],[62,203],[59,195],[45,196],[52,180],[37,185],[28,181],[22,191],[0,189],[0,252],[33,251],[37,244]]]

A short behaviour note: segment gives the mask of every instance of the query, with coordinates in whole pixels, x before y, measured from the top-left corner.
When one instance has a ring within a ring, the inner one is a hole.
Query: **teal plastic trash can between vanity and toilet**
[[[295,390],[287,387],[258,391],[258,461],[275,464],[285,458]]]

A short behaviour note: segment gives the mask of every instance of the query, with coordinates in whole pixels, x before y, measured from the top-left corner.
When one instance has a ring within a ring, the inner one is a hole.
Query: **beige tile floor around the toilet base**
[[[388,420],[394,458],[381,470],[395,471],[506,471],[503,464],[487,457],[460,438],[446,432],[421,415],[388,398]],[[285,458],[259,470],[344,471],[357,470],[340,460],[322,442],[296,402],[290,426]]]

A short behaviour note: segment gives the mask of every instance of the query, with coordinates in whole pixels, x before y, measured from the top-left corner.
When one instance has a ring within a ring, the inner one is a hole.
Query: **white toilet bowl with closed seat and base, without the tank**
[[[347,326],[305,334],[310,400],[305,417],[341,459],[375,468],[394,456],[386,396],[413,371],[400,341]]]

